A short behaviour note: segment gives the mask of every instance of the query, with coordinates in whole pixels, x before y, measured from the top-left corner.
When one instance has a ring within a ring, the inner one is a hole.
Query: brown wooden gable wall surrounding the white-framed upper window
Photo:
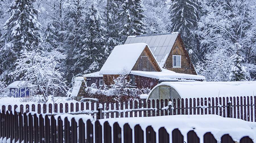
[[[173,68],[172,67],[172,55],[181,55],[181,68]],[[167,70],[175,71],[177,73],[186,73],[197,75],[193,64],[191,63],[190,67],[190,57],[185,49],[185,46],[182,42],[180,35],[177,36],[177,39],[172,47],[172,50],[166,59],[164,68]]]

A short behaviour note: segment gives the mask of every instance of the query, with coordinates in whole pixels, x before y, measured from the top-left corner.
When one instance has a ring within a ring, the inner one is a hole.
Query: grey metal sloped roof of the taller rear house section
[[[163,67],[167,57],[169,56],[174,42],[178,36],[178,32],[152,34],[141,36],[128,36],[125,44],[146,43],[156,57],[160,67]]]

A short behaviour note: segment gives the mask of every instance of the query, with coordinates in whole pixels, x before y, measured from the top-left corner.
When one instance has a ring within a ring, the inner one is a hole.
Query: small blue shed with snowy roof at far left
[[[30,84],[26,81],[15,81],[7,86],[10,89],[9,96],[27,97],[30,96]]]

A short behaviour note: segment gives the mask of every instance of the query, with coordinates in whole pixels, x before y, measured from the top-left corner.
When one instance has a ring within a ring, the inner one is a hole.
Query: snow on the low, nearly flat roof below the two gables
[[[192,80],[205,80],[204,76],[201,75],[191,75],[185,73],[176,73],[174,71],[166,70],[161,68],[162,71],[131,71],[133,75],[139,75],[144,77],[155,78],[159,80],[170,80],[174,79],[192,79]]]

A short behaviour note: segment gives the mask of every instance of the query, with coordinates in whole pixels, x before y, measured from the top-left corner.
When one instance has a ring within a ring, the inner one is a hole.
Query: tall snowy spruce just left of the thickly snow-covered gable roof
[[[105,60],[106,49],[106,22],[102,19],[98,9],[92,4],[85,18],[88,21],[87,31],[83,40],[84,45],[74,58],[77,60],[75,66],[80,68],[80,72],[90,73],[99,70]]]

